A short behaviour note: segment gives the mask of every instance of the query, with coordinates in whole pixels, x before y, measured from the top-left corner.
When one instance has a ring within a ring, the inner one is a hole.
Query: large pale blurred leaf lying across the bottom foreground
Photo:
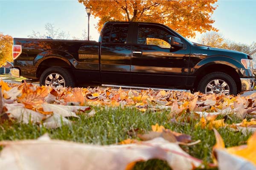
[[[163,138],[140,144],[101,146],[43,137],[41,140],[1,141],[0,145],[5,146],[0,154],[1,170],[55,170],[60,167],[62,170],[124,170],[132,168],[137,161],[149,159],[166,160],[173,170],[192,170],[202,164],[178,144]]]

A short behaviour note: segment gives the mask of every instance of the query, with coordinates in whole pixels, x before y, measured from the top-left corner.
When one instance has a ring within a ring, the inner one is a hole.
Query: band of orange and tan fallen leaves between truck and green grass
[[[52,128],[58,127],[60,118],[70,124],[66,117],[78,117],[86,113],[90,106],[104,107],[135,107],[140,111],[161,111],[169,109],[170,116],[179,119],[184,114],[194,114],[201,117],[198,126],[202,128],[218,128],[226,126],[224,120],[215,120],[218,115],[229,115],[244,119],[245,116],[256,118],[256,94],[250,96],[226,96],[215,94],[127,90],[116,88],[52,88],[27,84],[6,84],[1,80],[0,112],[8,114],[19,122],[29,121],[51,127],[51,122],[58,122]],[[22,114],[20,114],[22,113]],[[95,113],[92,110],[89,116]],[[251,124],[235,124],[236,130]],[[255,127],[251,127],[254,128]],[[251,131],[253,131],[251,130]]]

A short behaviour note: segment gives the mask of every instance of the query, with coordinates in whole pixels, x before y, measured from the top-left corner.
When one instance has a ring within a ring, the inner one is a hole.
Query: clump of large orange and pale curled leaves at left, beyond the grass
[[[93,109],[80,103],[68,105],[64,100],[55,100],[61,92],[58,93],[50,87],[28,85],[25,82],[10,88],[1,80],[0,89],[0,114],[6,114],[9,119],[16,119],[17,122],[32,122],[46,128],[57,128],[71,124],[67,117],[80,119],[77,114],[95,114]],[[91,110],[90,113],[86,112],[88,110]]]

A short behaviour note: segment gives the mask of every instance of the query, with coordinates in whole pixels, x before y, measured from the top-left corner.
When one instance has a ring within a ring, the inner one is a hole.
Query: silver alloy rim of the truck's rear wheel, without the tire
[[[58,86],[62,85],[64,87],[65,86],[65,80],[60,74],[51,73],[46,77],[45,85],[54,86],[54,87],[58,87]]]

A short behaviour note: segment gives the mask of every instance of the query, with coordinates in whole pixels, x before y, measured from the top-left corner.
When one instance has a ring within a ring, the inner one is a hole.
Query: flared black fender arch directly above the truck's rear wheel
[[[65,62],[67,62],[68,65],[73,65],[72,63],[74,60],[74,57],[65,51],[46,50],[46,51],[42,51],[35,57],[35,59],[34,59],[35,67],[38,68],[38,66],[41,64],[41,62],[43,62],[45,59],[49,59],[49,58],[61,59]]]

